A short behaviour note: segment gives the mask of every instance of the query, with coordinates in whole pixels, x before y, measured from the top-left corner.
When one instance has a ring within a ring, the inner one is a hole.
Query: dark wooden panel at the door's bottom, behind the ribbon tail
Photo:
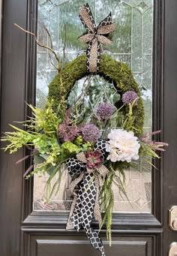
[[[107,255],[116,256],[151,256],[152,237],[116,237],[113,245],[104,242],[104,248]],[[31,236],[31,254],[30,256],[52,256],[60,255],[78,255],[82,256],[86,251],[88,256],[96,255],[94,248],[81,236]]]

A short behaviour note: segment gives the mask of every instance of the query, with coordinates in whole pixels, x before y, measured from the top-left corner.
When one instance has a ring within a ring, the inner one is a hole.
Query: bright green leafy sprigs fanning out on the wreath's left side
[[[17,152],[23,146],[31,146],[35,149],[34,170],[28,169],[30,173],[26,173],[26,179],[33,176],[34,173],[40,175],[43,172],[50,173],[49,170],[52,167],[61,167],[68,158],[92,147],[92,143],[85,143],[80,140],[80,137],[74,143],[71,141],[60,142],[58,127],[64,122],[65,115],[61,111],[59,119],[53,112],[51,103],[48,102],[41,109],[32,105],[28,105],[28,107],[31,108],[32,116],[23,122],[26,131],[10,125],[15,131],[6,132],[5,136],[1,137],[2,141],[7,142],[4,150],[9,150],[10,154]]]

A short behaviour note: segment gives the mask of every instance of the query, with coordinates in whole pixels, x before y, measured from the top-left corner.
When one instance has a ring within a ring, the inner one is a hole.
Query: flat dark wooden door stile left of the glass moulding
[[[2,4],[1,132],[9,129],[8,123],[23,121],[25,116],[26,37],[20,38],[21,33],[14,29],[13,23],[26,26],[27,17],[26,1],[5,1]],[[3,238],[0,255],[3,256],[20,255],[23,164],[17,166],[15,163],[22,157],[23,150],[17,155],[0,152],[0,237]]]

